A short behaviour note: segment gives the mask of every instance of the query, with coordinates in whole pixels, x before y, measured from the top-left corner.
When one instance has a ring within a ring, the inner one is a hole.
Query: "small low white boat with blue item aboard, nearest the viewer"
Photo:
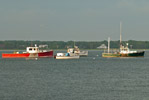
[[[57,53],[55,59],[79,59],[80,56],[74,53]]]

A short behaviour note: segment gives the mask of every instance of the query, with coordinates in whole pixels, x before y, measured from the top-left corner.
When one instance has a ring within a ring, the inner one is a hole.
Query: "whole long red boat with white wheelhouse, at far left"
[[[39,47],[27,47],[26,52],[2,53],[2,58],[40,58],[53,57],[53,50],[39,50]]]

